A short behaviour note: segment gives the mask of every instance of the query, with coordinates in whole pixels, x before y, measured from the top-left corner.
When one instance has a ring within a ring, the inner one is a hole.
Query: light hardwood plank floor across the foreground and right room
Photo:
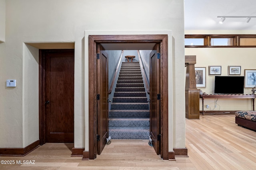
[[[24,157],[34,164],[0,164],[1,170],[256,170],[256,132],[235,124],[234,115],[186,119],[189,157],[162,160],[148,140],[112,140],[95,160],[71,157],[72,144],[46,143]]]

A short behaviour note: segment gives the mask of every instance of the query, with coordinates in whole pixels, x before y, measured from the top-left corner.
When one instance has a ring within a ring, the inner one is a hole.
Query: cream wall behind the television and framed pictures
[[[255,30],[186,30],[186,34],[256,34]],[[222,66],[221,76],[228,76],[228,66],[241,66],[241,76],[244,76],[244,69],[256,69],[255,65],[256,48],[185,48],[185,55],[196,55],[195,67],[206,67],[206,88],[200,88],[207,94],[214,94],[214,75],[208,75],[208,66]],[[251,94],[252,88],[244,88],[244,94]],[[214,109],[214,99],[204,100],[204,111],[234,111],[252,110],[251,99],[218,99],[217,107]],[[202,101],[200,100],[200,110]]]

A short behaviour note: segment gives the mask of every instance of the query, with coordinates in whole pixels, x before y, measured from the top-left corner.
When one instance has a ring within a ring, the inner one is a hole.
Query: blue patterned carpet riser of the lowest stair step
[[[118,128],[110,127],[111,139],[149,139],[148,127]]]

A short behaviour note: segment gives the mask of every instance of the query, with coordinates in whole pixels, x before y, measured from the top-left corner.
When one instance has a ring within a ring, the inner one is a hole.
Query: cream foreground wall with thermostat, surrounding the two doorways
[[[75,42],[74,147],[82,148],[88,147],[85,146],[88,136],[84,135],[88,130],[84,31],[172,30],[168,70],[170,77],[175,78],[169,80],[168,89],[170,101],[173,101],[169,105],[169,123],[173,129],[169,132],[169,150],[184,148],[183,4],[180,0],[6,1],[5,43],[0,44],[0,147],[24,147],[39,138],[38,104],[35,104],[38,101],[38,49],[26,43]],[[136,12],[127,13],[127,9]],[[17,80],[17,87],[6,88],[5,81],[9,78]],[[35,86],[28,83],[31,80]],[[32,121],[35,123],[30,124]]]

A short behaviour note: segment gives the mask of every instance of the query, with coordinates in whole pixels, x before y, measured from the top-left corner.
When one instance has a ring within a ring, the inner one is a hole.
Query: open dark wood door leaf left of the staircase
[[[97,45],[97,154],[108,137],[108,53]]]

